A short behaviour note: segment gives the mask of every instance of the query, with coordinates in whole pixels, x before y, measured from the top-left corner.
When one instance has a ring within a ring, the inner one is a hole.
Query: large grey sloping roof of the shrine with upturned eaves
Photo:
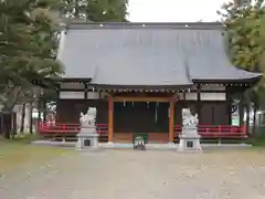
[[[219,23],[81,23],[65,35],[65,77],[99,85],[183,86],[258,77],[233,66]]]

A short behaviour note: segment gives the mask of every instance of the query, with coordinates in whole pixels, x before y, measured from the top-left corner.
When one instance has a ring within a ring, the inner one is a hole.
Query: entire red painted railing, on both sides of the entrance
[[[107,134],[107,124],[97,124],[98,134]],[[80,132],[80,124],[60,124],[60,123],[41,123],[39,126],[40,134],[74,135]],[[246,137],[246,128],[243,126],[231,125],[199,125],[199,134],[204,138],[241,138]],[[181,125],[174,125],[174,136],[181,133]]]

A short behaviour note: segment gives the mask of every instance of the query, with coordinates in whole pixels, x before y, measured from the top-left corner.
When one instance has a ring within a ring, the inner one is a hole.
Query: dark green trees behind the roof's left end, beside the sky
[[[123,22],[127,4],[128,0],[63,0],[61,11],[65,18]]]

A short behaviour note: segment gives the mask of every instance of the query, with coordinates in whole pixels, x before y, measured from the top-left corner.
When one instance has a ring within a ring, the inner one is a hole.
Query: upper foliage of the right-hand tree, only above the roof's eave
[[[261,45],[264,35],[261,34],[261,20],[265,17],[264,0],[254,6],[236,7],[225,3],[219,12],[229,33],[229,51],[232,62],[247,71],[262,71],[261,57],[265,46]]]

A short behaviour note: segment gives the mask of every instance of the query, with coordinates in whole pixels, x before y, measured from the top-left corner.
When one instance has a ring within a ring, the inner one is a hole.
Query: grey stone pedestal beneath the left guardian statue
[[[80,134],[77,134],[76,149],[84,150],[98,148],[98,136],[95,126],[82,127]]]

